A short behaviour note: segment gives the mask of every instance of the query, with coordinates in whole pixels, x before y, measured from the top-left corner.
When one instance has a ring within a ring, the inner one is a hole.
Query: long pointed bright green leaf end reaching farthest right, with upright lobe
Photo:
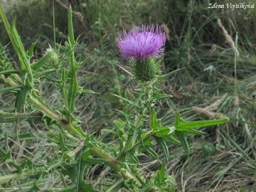
[[[213,119],[213,120],[205,120],[205,121],[194,121],[194,122],[186,122],[181,118],[181,114],[176,113],[176,122],[175,127],[178,131],[191,131],[191,129],[208,127],[215,124],[223,124],[228,122],[228,119]],[[197,132],[196,130],[192,130],[191,133],[203,134],[203,132]]]

